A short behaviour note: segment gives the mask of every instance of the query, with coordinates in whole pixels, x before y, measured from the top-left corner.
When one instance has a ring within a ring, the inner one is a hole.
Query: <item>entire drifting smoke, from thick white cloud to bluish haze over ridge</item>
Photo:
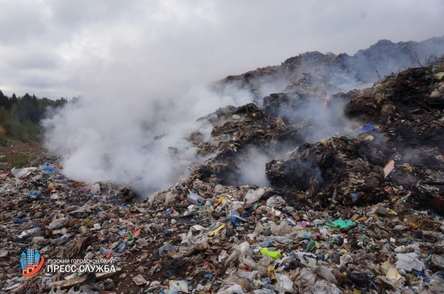
[[[198,118],[219,107],[251,102],[266,107],[264,96],[285,92],[291,103],[275,109],[274,115],[291,124],[306,124],[296,134],[298,143],[313,143],[350,131],[354,123],[343,114],[348,98],[335,94],[370,87],[375,82],[367,72],[368,64],[356,61],[359,54],[343,62],[344,57],[332,53],[305,53],[280,67],[229,76],[212,85],[197,83],[182,92],[91,92],[42,122],[45,146],[63,158],[63,172],[71,179],[87,183],[113,180],[136,185],[142,191],[165,189],[187,178],[198,164],[213,156],[199,156],[190,134],[198,132],[204,142],[216,145],[210,135],[212,124]],[[387,64],[403,65],[393,56]],[[388,70],[378,69],[382,73]],[[244,148],[237,162],[242,182],[268,184],[265,163],[296,146],[280,146],[273,151],[259,150],[258,146]]]

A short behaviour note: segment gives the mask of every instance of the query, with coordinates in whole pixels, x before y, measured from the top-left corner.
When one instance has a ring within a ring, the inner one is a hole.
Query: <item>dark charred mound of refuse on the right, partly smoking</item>
[[[220,108],[207,116],[216,144],[194,141],[199,152],[217,155],[188,181],[248,184],[237,162],[254,147],[280,155],[264,166],[266,177],[273,193],[296,205],[302,198],[301,205],[314,208],[368,204],[405,191],[409,201],[443,213],[437,200],[444,188],[443,74],[444,64],[414,67],[374,87],[330,96],[325,80],[334,80],[334,74],[315,69],[288,92],[264,97],[262,107]],[[344,105],[342,113],[338,105]],[[331,110],[338,120],[344,115],[352,121],[348,131],[305,143],[328,127],[322,116]]]

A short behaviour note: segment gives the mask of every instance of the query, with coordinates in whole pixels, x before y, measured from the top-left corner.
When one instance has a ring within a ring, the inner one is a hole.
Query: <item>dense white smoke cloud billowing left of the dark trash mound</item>
[[[130,183],[138,176],[149,189],[167,188],[176,172],[205,159],[185,139],[198,131],[210,141],[212,126],[196,119],[252,100],[248,92],[228,88],[216,94],[202,85],[169,100],[82,98],[42,121],[45,146],[62,157],[63,173],[73,180]],[[171,155],[169,147],[178,154]]]

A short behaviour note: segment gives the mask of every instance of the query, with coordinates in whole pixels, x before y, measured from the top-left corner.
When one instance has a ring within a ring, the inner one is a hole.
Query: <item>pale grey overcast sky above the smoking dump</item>
[[[441,37],[442,0],[0,1],[0,89],[160,94],[377,40]]]

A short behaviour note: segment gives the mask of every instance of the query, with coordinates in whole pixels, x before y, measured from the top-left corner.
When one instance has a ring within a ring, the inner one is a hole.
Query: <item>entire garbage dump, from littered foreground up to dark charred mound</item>
[[[213,156],[142,198],[70,180],[46,153],[3,170],[1,291],[444,293],[444,64],[347,93],[325,75],[203,116],[212,139],[188,139]],[[326,128],[298,112],[311,103],[352,126],[307,142]],[[253,147],[266,186],[242,178]]]

